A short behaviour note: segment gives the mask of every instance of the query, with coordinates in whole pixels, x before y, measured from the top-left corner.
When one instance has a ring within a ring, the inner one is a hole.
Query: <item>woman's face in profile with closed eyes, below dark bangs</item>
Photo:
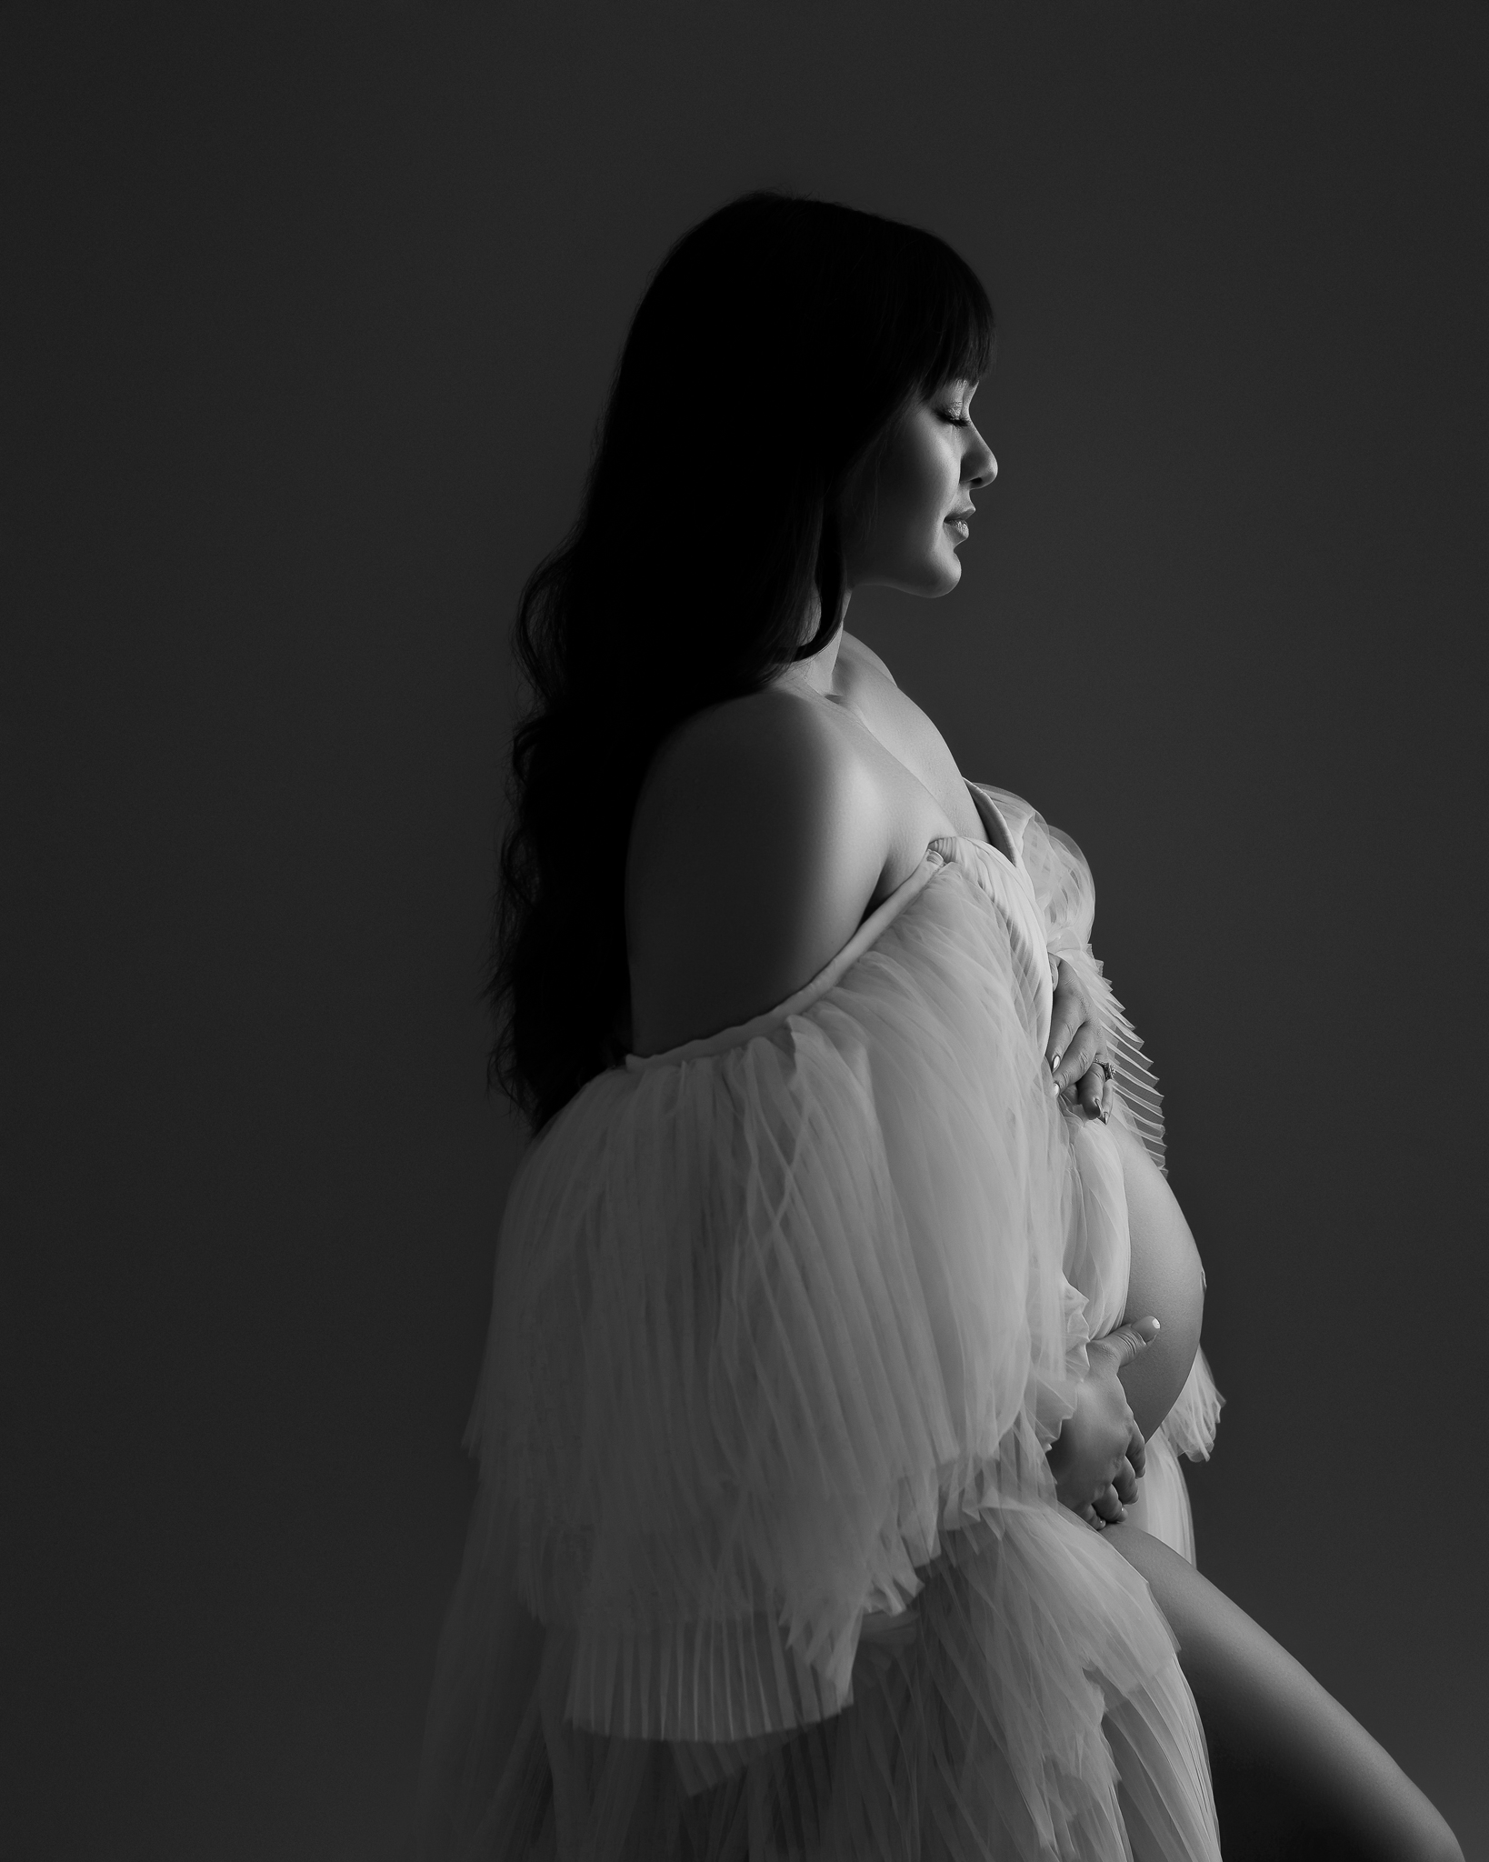
[[[849,588],[886,583],[947,594],[962,577],[972,492],[992,484],[998,460],[972,425],[975,382],[947,382],[916,400],[843,493]]]

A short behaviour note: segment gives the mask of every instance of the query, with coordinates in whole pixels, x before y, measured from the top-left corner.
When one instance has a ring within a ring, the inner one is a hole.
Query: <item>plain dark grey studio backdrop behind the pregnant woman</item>
[[[478,1007],[506,629],[650,268],[761,182],[994,294],[962,587],[849,626],[1093,860],[1210,1275],[1202,1570],[1489,1840],[1487,43],[6,9],[0,1855],[409,1853],[519,1154]],[[696,415],[679,525],[730,445]]]

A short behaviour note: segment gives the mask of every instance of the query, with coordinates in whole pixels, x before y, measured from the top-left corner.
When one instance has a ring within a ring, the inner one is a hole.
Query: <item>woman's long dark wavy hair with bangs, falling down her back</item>
[[[625,1052],[625,853],[651,756],[828,644],[849,469],[990,352],[964,259],[834,201],[746,194],[655,272],[579,518],[512,635],[532,706],[512,741],[490,1076],[532,1130]]]

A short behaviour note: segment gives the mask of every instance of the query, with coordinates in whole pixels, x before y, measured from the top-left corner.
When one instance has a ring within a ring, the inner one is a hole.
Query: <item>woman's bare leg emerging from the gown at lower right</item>
[[[1147,1577],[1178,1637],[1227,1862],[1463,1862],[1433,1804],[1281,1642],[1132,1523],[1106,1538]]]

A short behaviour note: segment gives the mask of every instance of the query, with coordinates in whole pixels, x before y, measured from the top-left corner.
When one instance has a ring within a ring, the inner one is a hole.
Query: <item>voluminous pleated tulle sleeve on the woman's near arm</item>
[[[469,1439],[575,1726],[838,1713],[942,1532],[1053,1499],[1087,1331],[1027,965],[934,855],[888,903],[780,1011],[590,1082],[514,1184]]]

